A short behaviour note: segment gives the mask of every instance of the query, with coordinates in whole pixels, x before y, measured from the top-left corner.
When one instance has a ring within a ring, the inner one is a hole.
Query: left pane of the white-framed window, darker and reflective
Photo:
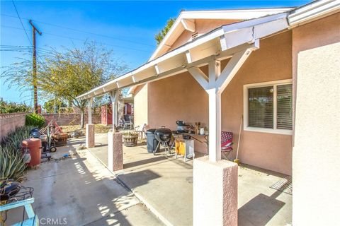
[[[250,88],[248,93],[248,126],[273,129],[273,86]]]

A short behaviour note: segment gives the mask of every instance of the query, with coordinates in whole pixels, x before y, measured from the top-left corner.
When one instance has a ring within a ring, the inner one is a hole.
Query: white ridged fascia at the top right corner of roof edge
[[[340,11],[340,0],[314,1],[311,4],[297,8],[288,16],[290,26],[294,27],[300,23],[307,23],[328,16],[329,13]]]

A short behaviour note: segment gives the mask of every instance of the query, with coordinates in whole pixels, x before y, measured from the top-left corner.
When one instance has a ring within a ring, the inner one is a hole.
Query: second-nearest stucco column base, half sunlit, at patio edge
[[[108,169],[116,171],[123,169],[123,135],[108,132]]]

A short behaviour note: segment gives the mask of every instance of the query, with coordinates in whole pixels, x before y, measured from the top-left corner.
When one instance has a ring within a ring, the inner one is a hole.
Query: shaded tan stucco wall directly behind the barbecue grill
[[[189,73],[149,83],[149,126],[176,130],[176,121],[208,124],[208,94]]]

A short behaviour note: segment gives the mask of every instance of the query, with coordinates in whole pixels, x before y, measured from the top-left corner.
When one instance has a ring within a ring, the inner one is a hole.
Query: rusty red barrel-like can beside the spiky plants
[[[30,150],[29,167],[39,165],[41,161],[41,140],[39,138],[29,138],[21,142],[21,150],[28,148]]]

